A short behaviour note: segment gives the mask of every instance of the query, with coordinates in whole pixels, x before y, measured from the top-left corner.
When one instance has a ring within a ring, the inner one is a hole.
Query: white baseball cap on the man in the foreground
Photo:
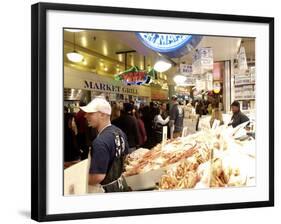
[[[111,106],[106,101],[106,99],[104,99],[102,97],[97,97],[97,98],[93,99],[86,106],[80,107],[80,109],[85,111],[86,113],[101,112],[104,114],[111,115]]]

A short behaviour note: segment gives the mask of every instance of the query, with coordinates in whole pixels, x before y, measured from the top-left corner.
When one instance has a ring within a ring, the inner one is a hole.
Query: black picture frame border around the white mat
[[[110,13],[155,17],[193,18],[232,22],[253,22],[269,25],[269,200],[214,205],[114,210],[48,215],[46,213],[46,13],[63,10],[88,13]],[[31,218],[37,221],[74,220],[86,218],[132,216],[205,210],[274,206],[274,18],[137,8],[103,7],[73,4],[37,3],[31,14]]]

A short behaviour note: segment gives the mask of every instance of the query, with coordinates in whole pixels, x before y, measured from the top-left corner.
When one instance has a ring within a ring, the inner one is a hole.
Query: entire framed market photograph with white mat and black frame
[[[32,219],[274,206],[274,18],[32,5]]]

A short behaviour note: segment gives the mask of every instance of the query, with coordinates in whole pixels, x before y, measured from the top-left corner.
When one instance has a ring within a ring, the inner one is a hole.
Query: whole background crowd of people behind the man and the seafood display
[[[81,103],[80,106],[85,106],[85,104]],[[187,112],[186,106],[192,108],[192,112]],[[198,130],[200,117],[203,115],[211,115],[210,127],[213,126],[215,120],[219,121],[219,125],[224,124],[219,103],[210,103],[207,100],[184,102],[174,96],[170,107],[165,102],[141,103],[139,107],[134,102],[112,102],[111,108],[110,121],[126,134],[129,152],[140,147],[150,149],[160,143],[164,126],[167,126],[168,138],[179,137],[187,113],[197,115],[196,130]],[[234,108],[233,114],[239,114],[238,117],[242,116],[242,120],[247,120],[243,114],[241,115],[237,101],[232,104],[232,108]],[[92,147],[92,141],[97,136],[97,130],[88,126],[83,110],[72,114],[68,113],[65,107],[64,112],[64,142],[67,149],[64,160],[72,162],[86,159]],[[237,118],[235,122],[237,123]],[[237,126],[235,122],[232,123]]]

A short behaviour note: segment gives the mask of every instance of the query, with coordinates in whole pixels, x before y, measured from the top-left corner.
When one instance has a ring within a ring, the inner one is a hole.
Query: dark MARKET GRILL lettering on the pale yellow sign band
[[[128,88],[108,83],[102,83],[102,82],[93,82],[93,81],[87,81],[84,80],[84,88],[85,89],[91,89],[91,90],[97,90],[97,91],[103,91],[103,92],[112,92],[112,93],[121,93],[121,94],[133,94],[137,95],[138,90],[134,88]]]

